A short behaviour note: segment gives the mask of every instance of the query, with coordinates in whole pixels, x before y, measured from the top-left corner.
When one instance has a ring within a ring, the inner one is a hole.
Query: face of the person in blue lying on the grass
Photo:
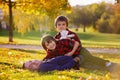
[[[42,63],[40,60],[30,60],[25,62],[25,69],[29,69],[32,71],[38,70],[39,65]]]

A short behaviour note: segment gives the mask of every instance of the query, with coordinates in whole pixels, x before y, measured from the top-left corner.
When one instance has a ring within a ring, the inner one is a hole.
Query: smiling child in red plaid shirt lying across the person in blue
[[[61,39],[58,41],[50,35],[45,35],[42,37],[41,42],[42,47],[47,52],[44,60],[61,55],[76,57],[80,52],[79,43],[70,39]]]

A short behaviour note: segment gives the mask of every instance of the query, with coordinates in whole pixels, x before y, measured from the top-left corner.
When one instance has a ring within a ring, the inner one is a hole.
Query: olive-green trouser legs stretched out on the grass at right
[[[91,66],[93,67],[96,66],[96,68],[97,66],[106,67],[106,63],[109,62],[108,60],[104,60],[102,58],[91,55],[91,53],[85,48],[81,49],[80,55],[84,57],[83,64],[81,64],[82,67],[86,67],[86,66],[88,68]]]

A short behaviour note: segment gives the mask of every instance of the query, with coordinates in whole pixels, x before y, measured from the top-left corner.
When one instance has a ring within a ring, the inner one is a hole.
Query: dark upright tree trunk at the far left
[[[9,0],[9,42],[13,42],[13,18],[12,18],[12,2]]]

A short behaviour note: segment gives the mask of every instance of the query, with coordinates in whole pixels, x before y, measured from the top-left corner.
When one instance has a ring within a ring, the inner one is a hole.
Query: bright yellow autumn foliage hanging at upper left
[[[30,31],[35,28],[38,29],[40,26],[48,26],[50,29],[53,27],[54,18],[59,15],[62,10],[70,13],[70,5],[68,0],[15,0],[16,4],[13,6],[13,22],[15,29],[24,34],[26,31]],[[6,6],[5,6],[6,5]],[[8,4],[4,4],[4,9],[7,10],[9,15]],[[45,17],[40,19],[40,17]],[[47,22],[46,16],[51,20]],[[7,16],[8,17],[8,16]],[[7,25],[9,25],[9,19]],[[47,25],[46,25],[47,22]]]

